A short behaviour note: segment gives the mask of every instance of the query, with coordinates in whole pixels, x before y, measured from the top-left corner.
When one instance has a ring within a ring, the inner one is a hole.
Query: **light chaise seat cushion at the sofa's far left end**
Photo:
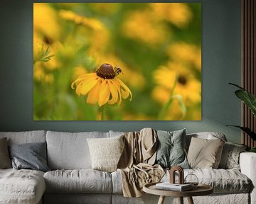
[[[0,169],[0,203],[38,203],[45,190],[42,171]]]

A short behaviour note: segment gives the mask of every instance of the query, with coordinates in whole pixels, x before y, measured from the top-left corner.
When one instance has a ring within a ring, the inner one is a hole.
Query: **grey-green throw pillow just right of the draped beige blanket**
[[[171,166],[181,166],[188,169],[188,161],[185,153],[185,137],[186,129],[174,132],[166,132],[158,130],[158,148],[156,150],[156,164],[160,164],[163,168],[171,168]]]

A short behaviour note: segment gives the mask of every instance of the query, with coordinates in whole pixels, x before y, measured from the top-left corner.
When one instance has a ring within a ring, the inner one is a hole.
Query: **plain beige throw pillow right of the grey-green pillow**
[[[191,168],[217,169],[223,150],[223,140],[206,140],[196,137],[191,138],[188,149],[188,164]]]

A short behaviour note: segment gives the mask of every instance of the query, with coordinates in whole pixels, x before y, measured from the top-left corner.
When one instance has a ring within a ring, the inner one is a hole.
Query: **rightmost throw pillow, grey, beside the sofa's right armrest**
[[[220,159],[220,169],[236,169],[240,170],[239,154],[245,151],[245,145],[233,144],[231,142],[225,142],[223,147],[222,156]]]

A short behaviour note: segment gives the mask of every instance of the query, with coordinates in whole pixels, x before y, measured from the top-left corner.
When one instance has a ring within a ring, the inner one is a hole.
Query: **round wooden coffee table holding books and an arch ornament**
[[[143,191],[149,194],[154,194],[160,196],[158,204],[164,203],[164,198],[166,196],[178,197],[180,203],[183,204],[183,197],[188,198],[188,203],[193,204],[192,196],[206,196],[213,193],[213,188],[205,185],[198,184],[195,188],[189,191],[168,191],[156,188],[156,183],[147,183],[143,186]]]

